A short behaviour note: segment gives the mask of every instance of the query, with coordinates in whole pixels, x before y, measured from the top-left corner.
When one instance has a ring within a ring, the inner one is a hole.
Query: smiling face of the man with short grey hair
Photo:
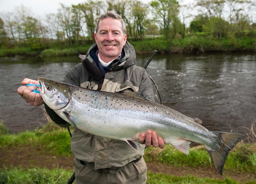
[[[100,58],[108,63],[121,54],[127,35],[124,36],[120,20],[104,18],[99,22],[98,33],[94,33],[94,38],[99,48]]]

